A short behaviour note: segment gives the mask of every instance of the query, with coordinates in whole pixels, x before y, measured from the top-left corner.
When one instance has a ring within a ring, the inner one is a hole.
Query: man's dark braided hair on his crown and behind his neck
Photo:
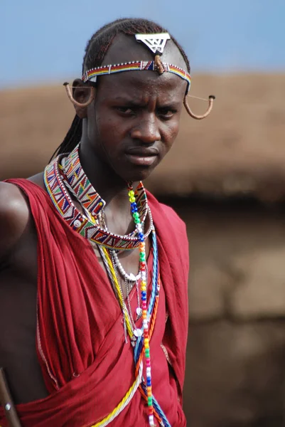
[[[165,28],[159,26],[153,21],[147,19],[117,19],[111,23],[107,23],[102,26],[88,41],[85,48],[85,56],[82,63],[82,74],[85,70],[90,70],[90,68],[100,67],[104,56],[106,55],[109,47],[112,44],[112,41],[117,36],[118,33],[123,33],[128,36],[134,36],[137,33],[148,34],[148,33],[164,33],[167,32]],[[187,70],[190,73],[189,60],[183,51],[183,48],[178,44],[175,38],[171,37],[173,42],[176,44],[179,49],[181,56],[183,57],[185,64],[187,65]],[[65,139],[60,144],[58,149],[55,150],[55,154],[70,153],[80,142],[82,137],[82,119],[75,115],[70,130],[68,130]]]

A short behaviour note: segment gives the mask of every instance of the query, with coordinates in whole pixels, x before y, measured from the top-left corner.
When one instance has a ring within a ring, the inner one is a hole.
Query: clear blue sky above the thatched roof
[[[158,21],[192,73],[285,72],[285,0],[1,0],[0,87],[80,76],[85,44],[119,17]]]

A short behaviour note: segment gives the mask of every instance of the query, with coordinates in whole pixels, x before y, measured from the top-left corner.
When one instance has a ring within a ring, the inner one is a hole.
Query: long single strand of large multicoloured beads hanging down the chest
[[[144,243],[144,233],[142,231],[141,220],[139,218],[138,208],[136,206],[136,199],[134,197],[134,189],[131,184],[129,188],[129,201],[131,202],[131,214],[136,224],[136,229],[139,234],[139,271],[141,273],[141,308],[142,308],[142,322],[144,327],[144,357],[146,360],[146,390],[147,390],[147,404],[149,406],[149,426],[153,427],[154,424],[154,406],[151,388],[151,354],[149,349],[149,325],[147,321],[147,307],[146,307],[146,244]]]

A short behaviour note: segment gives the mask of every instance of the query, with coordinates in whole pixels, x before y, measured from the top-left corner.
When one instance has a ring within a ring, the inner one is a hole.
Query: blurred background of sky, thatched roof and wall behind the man
[[[166,26],[191,94],[217,97],[146,183],[188,226],[188,425],[285,426],[284,0],[2,1],[0,179],[43,169],[74,115],[62,83],[130,16]]]

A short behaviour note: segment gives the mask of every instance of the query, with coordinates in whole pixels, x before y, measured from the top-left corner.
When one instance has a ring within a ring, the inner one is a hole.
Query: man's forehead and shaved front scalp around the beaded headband
[[[118,34],[112,41],[104,60],[103,65],[130,62],[136,60],[154,60],[154,53],[147,48],[144,43],[136,41],[135,36]],[[171,63],[186,70],[186,64],[176,44],[168,40],[163,50],[161,61]],[[116,90],[119,93],[148,93],[149,95],[180,96],[185,95],[187,83],[171,73],[158,75],[154,71],[125,71],[113,75],[102,76],[98,80],[99,88]]]

